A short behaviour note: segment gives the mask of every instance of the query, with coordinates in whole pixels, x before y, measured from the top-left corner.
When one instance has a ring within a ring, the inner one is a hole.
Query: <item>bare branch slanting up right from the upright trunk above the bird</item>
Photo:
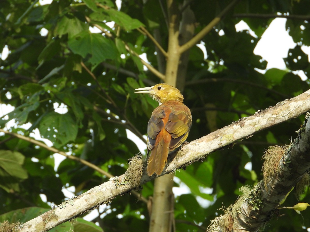
[[[194,36],[190,41],[185,43],[180,47],[180,53],[184,53],[186,50],[195,46],[201,39],[208,34],[213,27],[218,24],[221,19],[230,11],[240,0],[233,0],[218,16],[216,16],[205,28],[203,28],[196,36]]]

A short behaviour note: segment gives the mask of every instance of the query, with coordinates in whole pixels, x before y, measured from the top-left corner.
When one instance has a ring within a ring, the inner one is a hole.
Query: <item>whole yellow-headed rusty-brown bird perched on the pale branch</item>
[[[147,150],[149,153],[147,174],[162,174],[168,154],[179,148],[192,127],[192,114],[183,104],[179,89],[165,83],[137,88],[135,93],[147,93],[159,106],[153,110],[148,121]]]

